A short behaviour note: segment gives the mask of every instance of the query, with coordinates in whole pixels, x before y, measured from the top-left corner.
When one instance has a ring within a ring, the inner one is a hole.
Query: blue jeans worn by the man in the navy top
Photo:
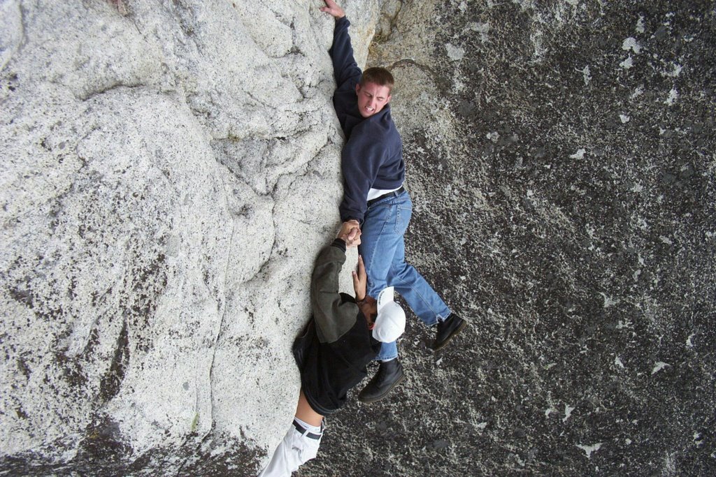
[[[365,212],[358,251],[363,256],[368,274],[368,295],[377,298],[385,287],[395,287],[413,313],[425,325],[432,326],[438,318],[448,318],[450,308],[425,278],[412,265],[405,263],[403,235],[411,215],[412,201],[407,191],[371,204]],[[395,341],[382,343],[375,359],[390,360],[397,355]]]

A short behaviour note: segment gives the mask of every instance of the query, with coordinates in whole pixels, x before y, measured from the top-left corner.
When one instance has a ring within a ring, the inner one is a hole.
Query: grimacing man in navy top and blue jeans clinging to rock
[[[402,141],[390,115],[392,74],[384,68],[358,67],[348,34],[350,22],[333,0],[324,0],[321,11],[336,19],[333,60],[337,89],[333,104],[346,135],[341,157],[344,178],[339,212],[344,231],[354,221],[361,227],[359,248],[368,271],[368,295],[376,296],[395,287],[428,326],[437,324],[432,343],[439,350],[465,328],[465,320],[451,313],[448,305],[412,265],[405,262],[404,235],[412,215],[412,202],[405,190]],[[378,372],[359,393],[359,400],[373,403],[384,398],[403,378],[395,342],[383,343]]]

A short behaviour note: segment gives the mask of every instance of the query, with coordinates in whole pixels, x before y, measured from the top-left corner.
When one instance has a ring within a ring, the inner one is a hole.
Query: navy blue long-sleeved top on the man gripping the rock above
[[[349,26],[346,17],[336,21],[329,51],[337,83],[333,105],[346,134],[341,155],[344,184],[339,212],[342,221],[356,219],[362,224],[368,191],[371,187],[385,190],[400,187],[405,180],[405,162],[390,104],[367,119],[358,111],[356,84],[362,72],[353,57]]]

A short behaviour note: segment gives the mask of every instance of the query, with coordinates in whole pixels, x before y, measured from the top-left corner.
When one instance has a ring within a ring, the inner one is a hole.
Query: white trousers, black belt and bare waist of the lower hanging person
[[[311,408],[301,390],[294,423],[258,477],[290,477],[292,472],[316,457],[322,436],[323,416]]]

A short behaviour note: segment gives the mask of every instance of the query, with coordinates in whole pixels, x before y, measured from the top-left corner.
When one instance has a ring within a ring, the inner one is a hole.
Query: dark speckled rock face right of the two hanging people
[[[409,314],[405,383],[300,476],[716,475],[714,2],[446,2],[425,64],[416,11],[373,64],[409,260],[470,328],[433,355]]]

